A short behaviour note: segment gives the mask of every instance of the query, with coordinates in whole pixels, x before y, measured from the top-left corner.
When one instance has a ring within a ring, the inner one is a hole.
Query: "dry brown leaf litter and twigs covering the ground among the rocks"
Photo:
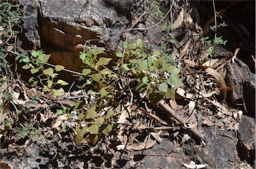
[[[197,9],[194,8],[193,11],[196,12]],[[147,14],[143,13],[138,19]],[[9,152],[23,156],[26,146],[37,144],[53,160],[59,158],[59,150],[63,156],[73,160],[85,156],[98,159],[101,154],[106,154],[107,157],[101,160],[107,163],[111,159],[111,164],[108,165],[117,166],[117,159],[123,156],[123,152],[151,148],[170,133],[173,140],[177,140],[180,145],[189,139],[197,138],[203,141],[202,126],[216,126],[216,130],[221,131],[237,131],[243,112],[229,107],[225,102],[227,92],[232,90],[225,82],[226,65],[232,65],[237,51],[231,57],[222,55],[209,59],[205,51],[211,47],[201,41],[203,29],[193,21],[189,8],[185,5],[179,13],[176,10],[174,16],[176,19],[169,36],[175,41],[172,56],[181,68],[184,84],[177,88],[175,99],[162,99],[152,105],[145,99],[147,93],[137,94],[129,90],[130,93],[123,96],[119,110],[113,112],[111,120],[116,124],[115,130],[98,134],[101,137],[97,134],[85,135],[84,138],[79,138],[82,141],[77,144],[78,138],[75,136],[79,133],[72,128],[64,132],[61,124],[69,117],[66,114],[57,114],[56,110],[62,106],[73,107],[77,102],[85,102],[81,109],[87,110],[91,105],[97,104],[97,100],[101,99],[99,95],[88,96],[83,90],[63,91],[63,96],[55,96],[53,92],[44,94],[40,92],[40,87],[29,87],[19,79],[19,75],[17,79],[1,77],[1,146]],[[205,27],[211,22],[213,19],[210,19]],[[138,21],[127,31],[135,31],[137,23]],[[109,109],[111,106],[106,106],[105,110],[101,111],[102,115]],[[11,130],[6,130],[10,127]],[[181,132],[181,129],[190,134]],[[191,134],[195,138],[191,138]],[[135,167],[133,158],[127,154],[127,167]],[[7,164],[2,162],[1,165]],[[207,164],[192,162],[184,166],[203,168]]]

